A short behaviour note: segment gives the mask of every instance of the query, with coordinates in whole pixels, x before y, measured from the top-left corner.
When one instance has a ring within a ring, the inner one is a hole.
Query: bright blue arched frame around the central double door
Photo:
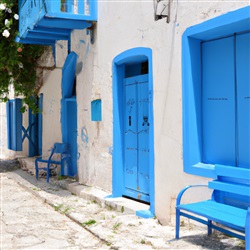
[[[155,187],[154,187],[154,114],[153,114],[153,76],[152,76],[152,50],[150,48],[133,48],[127,50],[113,60],[113,166],[112,166],[112,197],[121,197],[125,192],[125,165],[124,165],[124,79],[126,78],[126,65],[148,62],[148,94],[149,94],[149,202],[150,209],[137,211],[137,215],[152,218],[155,213]]]

